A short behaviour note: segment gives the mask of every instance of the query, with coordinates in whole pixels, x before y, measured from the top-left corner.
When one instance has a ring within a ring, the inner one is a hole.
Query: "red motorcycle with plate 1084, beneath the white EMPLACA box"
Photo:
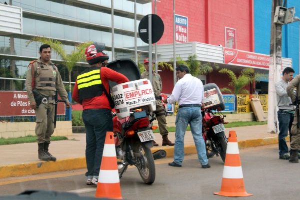
[[[118,119],[114,116],[112,121],[119,178],[128,165],[134,165],[143,182],[150,185],[155,180],[154,159],[150,150],[155,139],[152,129],[157,127],[150,126],[154,119],[149,120],[148,116],[145,110],[133,110],[128,117]],[[155,154],[156,158],[158,154]]]

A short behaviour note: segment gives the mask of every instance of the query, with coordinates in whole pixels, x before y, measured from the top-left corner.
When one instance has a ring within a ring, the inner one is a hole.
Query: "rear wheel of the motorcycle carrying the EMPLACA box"
[[[136,167],[145,184],[152,184],[155,180],[155,165],[152,153],[142,143],[137,145]]]

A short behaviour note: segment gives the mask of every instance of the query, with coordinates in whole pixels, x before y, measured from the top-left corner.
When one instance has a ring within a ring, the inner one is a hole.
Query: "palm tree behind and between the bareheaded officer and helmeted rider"
[[[51,46],[51,50],[53,50],[63,61],[63,65],[66,66],[68,70],[68,79],[69,79],[69,87],[68,91],[71,92],[71,71],[72,68],[76,65],[76,62],[79,62],[84,59],[84,50],[85,48],[92,44],[91,41],[83,42],[74,47],[74,50],[70,54],[66,54],[63,44],[56,39],[50,39],[41,36],[35,36],[31,40],[26,42],[26,46],[31,42],[36,41],[43,44],[49,44]]]

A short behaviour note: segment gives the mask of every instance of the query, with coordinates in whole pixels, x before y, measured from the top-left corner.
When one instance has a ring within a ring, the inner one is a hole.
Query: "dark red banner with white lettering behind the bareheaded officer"
[[[58,97],[58,99],[60,99]],[[27,92],[0,91],[0,116],[33,116],[35,111],[30,108]],[[58,103],[57,115],[65,115],[64,103]]]

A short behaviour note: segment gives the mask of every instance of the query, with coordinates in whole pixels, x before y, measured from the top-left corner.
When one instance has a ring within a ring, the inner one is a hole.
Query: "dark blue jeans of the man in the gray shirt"
[[[278,147],[279,147],[279,156],[283,156],[288,153],[288,147],[285,142],[285,137],[287,132],[290,132],[291,123],[293,121],[293,114],[278,110],[277,118],[279,122],[279,135],[278,135]]]

